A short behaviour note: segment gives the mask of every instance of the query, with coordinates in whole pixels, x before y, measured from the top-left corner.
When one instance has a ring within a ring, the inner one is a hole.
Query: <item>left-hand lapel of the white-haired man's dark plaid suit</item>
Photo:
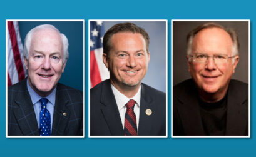
[[[39,135],[38,122],[36,121],[36,114],[34,113],[33,104],[28,93],[26,79],[21,84],[20,92],[14,99],[14,103],[18,108],[14,108],[14,116],[23,135]]]

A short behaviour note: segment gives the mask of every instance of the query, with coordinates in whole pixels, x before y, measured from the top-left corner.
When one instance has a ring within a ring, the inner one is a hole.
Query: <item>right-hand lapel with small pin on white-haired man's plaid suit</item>
[[[68,105],[68,95],[66,91],[58,84],[56,89],[56,101],[53,114],[52,135],[63,135],[69,121],[70,111]]]

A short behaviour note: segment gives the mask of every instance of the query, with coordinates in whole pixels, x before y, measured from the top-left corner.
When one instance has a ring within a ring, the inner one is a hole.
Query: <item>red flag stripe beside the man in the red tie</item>
[[[90,52],[90,78],[92,88],[101,82],[100,71],[95,57],[95,51]]]

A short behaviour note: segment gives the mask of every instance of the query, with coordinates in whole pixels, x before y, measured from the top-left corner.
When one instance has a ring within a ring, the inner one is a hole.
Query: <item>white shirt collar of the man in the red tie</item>
[[[126,97],[124,94],[122,94],[120,91],[118,91],[118,89],[116,89],[115,86],[113,86],[113,84],[111,84],[111,88],[112,88],[112,91],[113,91],[115,99],[116,99],[116,104],[118,106],[118,110],[123,108],[125,106],[125,104],[128,103],[128,101],[130,101],[130,99],[135,100],[138,107],[140,107],[141,86],[138,89],[135,96],[133,96],[133,98]]]

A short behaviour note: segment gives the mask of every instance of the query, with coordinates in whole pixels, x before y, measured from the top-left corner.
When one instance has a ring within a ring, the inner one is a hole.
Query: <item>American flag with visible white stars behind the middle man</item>
[[[91,88],[101,81],[110,78],[103,63],[103,36],[105,34],[103,21],[90,21],[90,83]]]

